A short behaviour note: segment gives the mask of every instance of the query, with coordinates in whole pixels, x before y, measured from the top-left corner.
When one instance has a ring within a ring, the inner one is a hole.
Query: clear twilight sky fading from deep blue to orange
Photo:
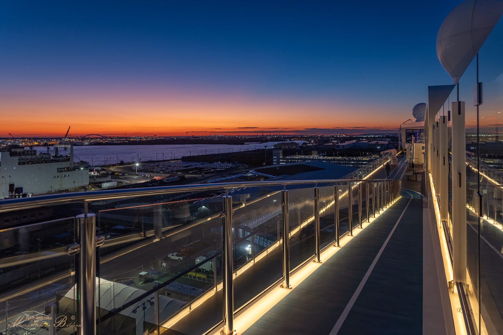
[[[0,136],[396,130],[459,1],[0,3]]]

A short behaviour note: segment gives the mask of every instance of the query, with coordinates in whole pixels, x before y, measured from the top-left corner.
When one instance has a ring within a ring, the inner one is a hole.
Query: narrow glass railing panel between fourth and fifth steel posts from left
[[[336,239],[336,225],[334,220],[333,185],[319,187],[319,227],[320,248],[333,244]]]

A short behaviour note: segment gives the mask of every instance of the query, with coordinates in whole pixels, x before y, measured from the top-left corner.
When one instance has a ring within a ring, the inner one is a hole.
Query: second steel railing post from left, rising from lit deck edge
[[[234,332],[234,296],[232,287],[232,196],[223,196],[223,333]]]

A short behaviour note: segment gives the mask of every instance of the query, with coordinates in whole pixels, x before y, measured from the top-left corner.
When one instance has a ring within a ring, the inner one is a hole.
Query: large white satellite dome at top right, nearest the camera
[[[455,84],[501,14],[501,0],[466,0],[445,18],[437,35],[437,56]]]

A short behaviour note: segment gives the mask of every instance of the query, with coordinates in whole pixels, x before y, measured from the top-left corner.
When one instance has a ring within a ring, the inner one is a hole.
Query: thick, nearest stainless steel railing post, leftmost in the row
[[[76,219],[80,240],[77,285],[79,334],[88,335],[96,333],[96,216],[79,214]]]

